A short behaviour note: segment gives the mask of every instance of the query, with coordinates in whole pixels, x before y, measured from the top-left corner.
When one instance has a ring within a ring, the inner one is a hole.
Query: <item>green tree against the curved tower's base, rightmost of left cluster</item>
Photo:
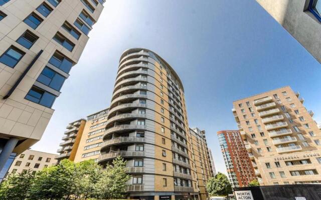
[[[113,160],[111,165],[107,165],[103,170],[103,178],[97,183],[97,191],[99,198],[123,198],[126,182],[130,179],[130,175],[125,173],[126,161],[121,157]]]

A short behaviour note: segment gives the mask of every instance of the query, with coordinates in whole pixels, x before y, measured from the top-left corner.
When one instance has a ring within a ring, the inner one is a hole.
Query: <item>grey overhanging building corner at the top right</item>
[[[321,0],[256,0],[321,62]]]

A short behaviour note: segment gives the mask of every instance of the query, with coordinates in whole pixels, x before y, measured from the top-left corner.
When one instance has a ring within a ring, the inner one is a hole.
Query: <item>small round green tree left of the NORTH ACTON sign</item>
[[[232,193],[232,186],[226,175],[218,172],[215,177],[211,177],[206,184],[207,191],[211,195],[228,195]]]

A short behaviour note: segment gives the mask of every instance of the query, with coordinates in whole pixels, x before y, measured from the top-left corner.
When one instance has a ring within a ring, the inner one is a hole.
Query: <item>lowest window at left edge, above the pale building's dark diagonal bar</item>
[[[10,46],[0,57],[0,62],[14,68],[20,59],[25,55],[25,52],[15,46]]]

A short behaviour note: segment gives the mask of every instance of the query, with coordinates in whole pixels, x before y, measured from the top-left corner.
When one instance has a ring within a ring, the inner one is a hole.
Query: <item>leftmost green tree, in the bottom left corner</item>
[[[11,173],[0,185],[0,199],[21,200],[29,197],[29,189],[34,181],[34,174],[29,171]]]

